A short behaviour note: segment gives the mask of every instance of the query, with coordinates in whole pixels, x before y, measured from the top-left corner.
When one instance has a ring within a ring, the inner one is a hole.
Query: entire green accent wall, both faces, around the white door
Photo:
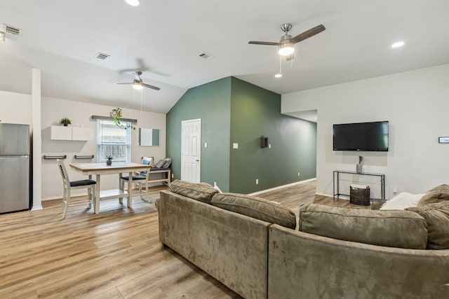
[[[175,179],[181,174],[181,122],[197,118],[201,181],[217,182],[223,192],[253,193],[316,177],[316,123],[281,114],[281,95],[227,77],[187,90],[168,112],[167,156]],[[271,148],[261,148],[262,135]]]

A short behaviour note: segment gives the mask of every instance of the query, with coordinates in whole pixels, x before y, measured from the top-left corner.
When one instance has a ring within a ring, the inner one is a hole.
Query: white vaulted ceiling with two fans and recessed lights
[[[30,67],[42,70],[42,94],[140,108],[132,71],[142,69],[143,109],[166,113],[188,88],[236,76],[279,94],[449,63],[448,0],[0,0],[0,90],[31,92]],[[293,65],[275,46],[282,23],[297,43]],[[403,40],[406,46],[392,49]],[[97,53],[111,55],[107,60]],[[213,55],[204,60],[201,53]]]

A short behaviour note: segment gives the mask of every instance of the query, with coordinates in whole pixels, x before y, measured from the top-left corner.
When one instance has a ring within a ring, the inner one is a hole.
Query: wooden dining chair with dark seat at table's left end
[[[70,193],[72,189],[83,189],[87,188],[88,192],[88,209],[91,209],[92,204],[95,202],[95,190],[97,188],[97,182],[92,179],[84,179],[79,181],[70,181],[69,175],[67,174],[67,170],[65,169],[64,162],[60,159],[56,160],[58,162],[59,170],[62,176],[62,186],[64,187],[62,193],[62,207],[64,209],[64,213],[62,214],[62,219],[65,218],[65,214],[67,214],[67,208],[77,206],[80,204],[72,204],[70,205]],[[85,204],[85,203],[82,203]]]

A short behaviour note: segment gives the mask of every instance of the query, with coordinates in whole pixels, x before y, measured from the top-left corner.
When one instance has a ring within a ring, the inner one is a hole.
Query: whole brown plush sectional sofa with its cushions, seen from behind
[[[305,204],[297,222],[276,202],[174,181],[156,207],[161,242],[243,298],[449,294],[449,227],[438,235],[429,218],[449,201],[415,211]]]

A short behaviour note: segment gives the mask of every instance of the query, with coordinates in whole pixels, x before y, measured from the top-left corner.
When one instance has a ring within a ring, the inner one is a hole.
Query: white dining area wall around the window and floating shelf
[[[115,108],[113,106],[102,106],[98,104],[88,104],[74,102],[64,99],[42,98],[42,155],[67,155],[65,165],[71,181],[76,179],[86,179],[81,174],[77,174],[70,169],[72,162],[96,162],[96,121],[91,120],[91,116],[109,116],[109,112]],[[135,118],[138,120],[135,125],[136,130],[131,135],[131,162],[140,163],[142,156],[152,156],[159,160],[166,158],[166,115],[133,109],[122,109],[123,118]],[[50,139],[51,125],[59,125],[59,120],[68,117],[72,120],[72,127],[91,128],[91,141],[62,141]],[[161,146],[139,146],[138,128],[159,129]],[[75,159],[74,155],[95,155],[91,159]],[[43,159],[43,158],[42,158]],[[102,190],[118,188],[118,176],[105,175],[101,181]],[[85,193],[85,190],[79,190]],[[76,193],[75,193],[76,194]],[[55,160],[42,160],[42,199],[62,197],[61,176],[56,167]]]

